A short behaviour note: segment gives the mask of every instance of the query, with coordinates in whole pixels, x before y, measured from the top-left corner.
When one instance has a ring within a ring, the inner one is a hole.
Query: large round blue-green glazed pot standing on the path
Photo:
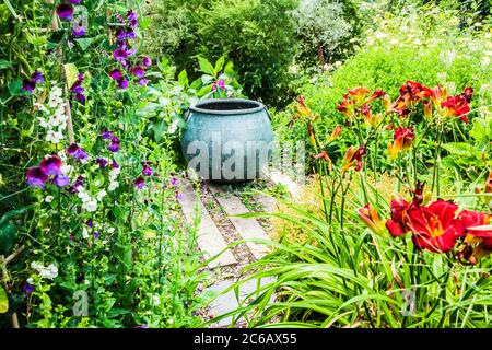
[[[204,100],[191,106],[181,135],[188,166],[200,177],[242,183],[261,176],[273,147],[270,116],[248,100]]]

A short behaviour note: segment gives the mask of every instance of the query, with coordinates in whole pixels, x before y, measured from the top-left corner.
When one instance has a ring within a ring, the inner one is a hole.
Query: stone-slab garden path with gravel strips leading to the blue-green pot
[[[297,196],[300,185],[294,183],[289,176],[279,171],[270,172],[268,185],[282,185],[292,196]],[[243,268],[260,259],[268,254],[268,247],[248,240],[271,240],[270,228],[265,220],[253,218],[237,218],[236,214],[248,213],[251,210],[251,202],[245,203],[230,185],[218,185],[209,182],[201,182],[199,190],[196,190],[190,180],[185,180],[183,186],[183,197],[179,199],[183,213],[188,223],[192,223],[198,210],[201,218],[198,226],[198,248],[208,259],[223,252],[213,259],[208,268],[212,272],[213,282],[207,287],[207,292],[219,295],[206,312],[206,317],[213,318],[218,315],[234,311],[251,293],[257,290],[258,281],[249,280],[242,283],[238,290],[238,298],[232,289],[222,293],[227,288],[241,279],[247,278]],[[255,202],[255,211],[273,212],[278,209],[273,198],[261,194],[251,197]],[[245,240],[246,243],[231,245],[237,241]],[[273,281],[261,280],[265,285]],[[220,319],[212,327],[226,327],[231,325],[231,317]],[[241,327],[236,324],[236,327]]]

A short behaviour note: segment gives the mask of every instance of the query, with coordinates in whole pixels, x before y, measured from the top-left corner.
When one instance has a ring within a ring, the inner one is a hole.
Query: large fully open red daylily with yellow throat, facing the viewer
[[[412,232],[412,241],[418,249],[446,253],[453,249],[458,237],[465,235],[461,220],[455,219],[458,206],[438,199],[427,207],[410,208],[406,224]]]

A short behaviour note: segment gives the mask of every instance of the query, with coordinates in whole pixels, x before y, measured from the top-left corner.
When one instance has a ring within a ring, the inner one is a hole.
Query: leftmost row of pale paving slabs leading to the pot
[[[204,253],[206,258],[210,258],[227,247],[227,244],[221,232],[213,222],[210,213],[204,208],[200,199],[196,198],[195,189],[189,182],[185,182],[181,189],[183,197],[179,199],[183,213],[188,223],[192,223],[195,219],[195,205],[199,200],[200,225],[198,228],[198,246]],[[236,264],[236,259],[231,250],[225,250],[216,259],[209,264],[210,268],[219,266],[227,266]]]

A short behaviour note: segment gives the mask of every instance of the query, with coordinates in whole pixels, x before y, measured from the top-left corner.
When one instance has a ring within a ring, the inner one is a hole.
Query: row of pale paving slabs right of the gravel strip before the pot
[[[238,197],[225,192],[220,185],[208,183],[207,186],[212,191],[215,199],[222,206],[227,215],[237,215],[249,212],[249,210],[245,207],[245,205],[243,205]],[[263,230],[263,228],[256,219],[235,217],[230,217],[229,219],[244,240],[270,240],[268,233]],[[263,244],[246,242],[246,245],[248,246],[249,250],[251,250],[256,259],[260,259],[268,253],[268,247]]]

